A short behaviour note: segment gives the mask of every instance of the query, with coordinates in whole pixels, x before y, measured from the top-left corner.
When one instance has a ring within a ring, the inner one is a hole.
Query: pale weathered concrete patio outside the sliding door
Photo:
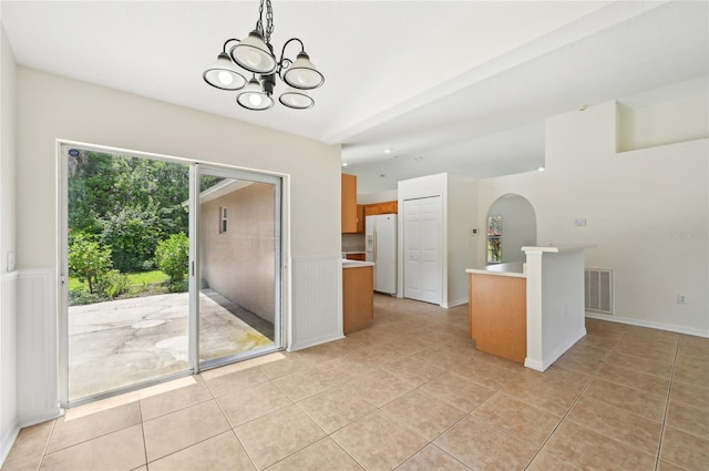
[[[201,360],[274,345],[270,324],[205,293],[199,295]],[[70,400],[185,371],[187,317],[187,293],[70,307]]]

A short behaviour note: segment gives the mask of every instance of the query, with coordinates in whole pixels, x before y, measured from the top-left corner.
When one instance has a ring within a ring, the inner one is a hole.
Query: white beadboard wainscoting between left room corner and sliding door
[[[61,413],[54,269],[20,270],[17,293],[18,422],[27,427]]]

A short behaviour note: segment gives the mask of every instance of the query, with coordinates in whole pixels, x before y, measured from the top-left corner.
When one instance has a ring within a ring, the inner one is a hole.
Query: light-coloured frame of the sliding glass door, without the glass
[[[109,154],[129,155],[132,157],[148,158],[153,161],[169,162],[175,164],[184,164],[189,167],[189,314],[188,314],[188,346],[187,346],[187,369],[176,373],[166,375],[164,377],[137,382],[123,388],[102,392],[86,398],[70,400],[69,398],[69,160],[68,151],[70,147],[78,147],[84,151],[103,152]],[[225,164],[215,164],[199,162],[196,160],[187,160],[183,157],[154,154],[148,152],[132,151],[119,147],[110,147],[103,145],[88,144],[68,140],[56,140],[56,318],[58,318],[58,368],[59,368],[59,401],[62,408],[71,408],[81,406],[82,403],[93,402],[104,398],[119,396],[125,392],[135,391],[153,385],[171,381],[199,371],[217,368],[224,365],[245,360],[251,357],[268,354],[270,351],[282,350],[285,345],[285,328],[287,326],[287,247],[288,234],[285,227],[287,225],[288,212],[284,209],[286,202],[286,185],[288,177],[285,174],[278,174],[267,171],[255,171],[250,168],[242,168]],[[199,361],[199,175],[201,170],[209,172],[209,175],[225,176],[229,178],[243,177],[253,182],[270,183],[275,185],[275,313],[274,313],[274,346],[257,349],[255,352],[244,352],[218,358],[205,362]]]

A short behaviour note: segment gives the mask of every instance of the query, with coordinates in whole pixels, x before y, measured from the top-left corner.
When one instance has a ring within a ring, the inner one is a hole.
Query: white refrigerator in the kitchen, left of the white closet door
[[[397,294],[397,215],[380,214],[364,219],[367,262],[374,263],[374,291]]]

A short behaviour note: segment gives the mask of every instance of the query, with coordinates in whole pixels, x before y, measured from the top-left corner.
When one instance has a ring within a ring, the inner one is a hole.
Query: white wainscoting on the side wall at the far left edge
[[[18,424],[18,273],[0,278],[0,463],[8,457],[20,431]]]

